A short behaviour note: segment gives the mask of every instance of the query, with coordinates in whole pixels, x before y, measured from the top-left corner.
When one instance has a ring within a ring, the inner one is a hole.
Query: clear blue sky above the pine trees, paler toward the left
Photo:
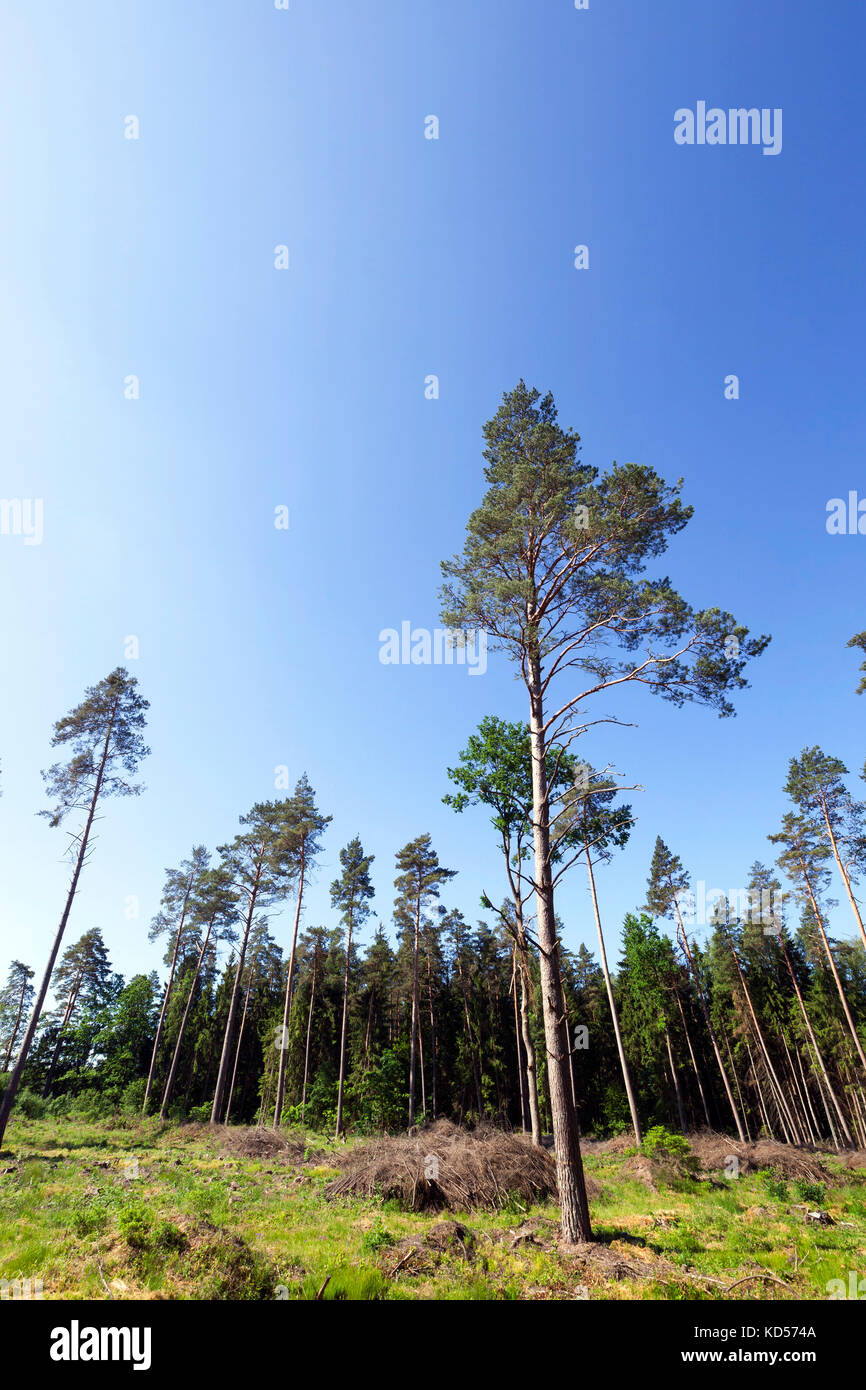
[[[841,0],[6,0],[0,495],[42,499],[44,534],[0,535],[3,976],[42,970],[68,877],[35,815],[51,727],[124,663],[152,702],[147,791],[104,805],[67,941],[99,926],[117,969],[157,965],[164,869],[231,838],[279,764],[334,816],[307,924],[332,920],[356,833],[385,922],[424,831],[459,870],[449,906],[500,894],[484,813],[441,798],[523,688],[499,656],[382,666],[378,634],[436,626],[482,423],[520,377],[585,461],[685,480],[663,569],[773,634],[737,719],[596,706],[638,727],[587,755],[645,788],[599,874],[613,954],[656,834],[738,887],[794,753],[859,770],[866,537],[828,535],[826,505],[866,496],[865,39]],[[699,100],[780,107],[781,153],[676,145]],[[557,908],[592,948],[578,870]]]

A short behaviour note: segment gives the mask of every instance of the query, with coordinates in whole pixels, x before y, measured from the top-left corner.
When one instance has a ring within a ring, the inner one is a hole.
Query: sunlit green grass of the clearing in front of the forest
[[[550,1204],[460,1215],[327,1201],[334,1145],[291,1137],[300,1159],[286,1162],[243,1156],[206,1126],[18,1119],[0,1158],[0,1280],[40,1279],[54,1300],[823,1300],[830,1279],[866,1273],[866,1173],[831,1172],[817,1202],[809,1184],[760,1173],[652,1191],[624,1155],[587,1155],[605,1257],[587,1262],[552,1248]],[[809,1205],[833,1225],[809,1223]],[[431,1254],[443,1219],[471,1229],[470,1258],[453,1243]],[[541,1220],[535,1241],[514,1237],[527,1220]]]

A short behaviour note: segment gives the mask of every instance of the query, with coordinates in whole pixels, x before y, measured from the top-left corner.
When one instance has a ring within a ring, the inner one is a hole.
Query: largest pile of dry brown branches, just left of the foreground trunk
[[[414,1134],[359,1144],[325,1197],[396,1198],[410,1211],[498,1211],[556,1197],[556,1163],[521,1134],[436,1120]],[[591,1187],[594,1184],[588,1184]],[[592,1195],[592,1191],[589,1191]]]

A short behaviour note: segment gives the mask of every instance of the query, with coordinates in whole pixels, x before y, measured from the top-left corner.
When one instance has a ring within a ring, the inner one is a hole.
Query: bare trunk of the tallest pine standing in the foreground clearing
[[[553,1120],[553,1150],[562,1207],[562,1236],[566,1245],[592,1240],[587,1182],[580,1151],[577,1109],[571,1093],[571,1049],[563,1045],[563,990],[553,913],[550,874],[550,808],[546,769],[546,731],[541,664],[530,657],[530,741],[532,749],[532,841],[535,862],[535,898],[538,909],[538,945],[541,998],[548,1054],[548,1087]]]

